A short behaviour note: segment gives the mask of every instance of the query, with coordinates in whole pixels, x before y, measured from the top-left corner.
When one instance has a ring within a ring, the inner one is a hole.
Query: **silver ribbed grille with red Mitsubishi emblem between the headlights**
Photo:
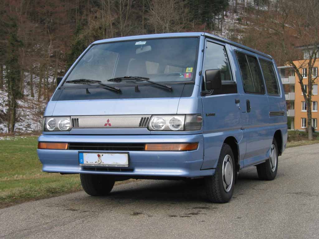
[[[73,128],[146,128],[151,115],[72,116]]]

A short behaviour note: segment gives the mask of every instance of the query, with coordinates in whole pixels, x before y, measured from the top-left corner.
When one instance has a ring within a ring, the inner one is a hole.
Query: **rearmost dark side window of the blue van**
[[[265,79],[267,92],[270,95],[279,95],[279,86],[277,77],[274,72],[272,62],[259,59],[261,69],[263,71],[263,78]]]

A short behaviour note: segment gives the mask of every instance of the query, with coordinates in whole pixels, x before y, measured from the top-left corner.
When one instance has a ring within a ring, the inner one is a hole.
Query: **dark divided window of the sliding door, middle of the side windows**
[[[236,51],[241,78],[246,93],[264,94],[265,87],[256,57]]]

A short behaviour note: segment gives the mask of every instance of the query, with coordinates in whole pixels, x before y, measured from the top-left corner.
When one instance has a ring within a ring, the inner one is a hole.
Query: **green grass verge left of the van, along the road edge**
[[[0,140],[0,208],[81,190],[78,175],[44,173],[36,136]]]

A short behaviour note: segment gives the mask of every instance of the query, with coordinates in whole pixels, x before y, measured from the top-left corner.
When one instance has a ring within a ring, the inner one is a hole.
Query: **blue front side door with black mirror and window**
[[[241,109],[240,95],[233,79],[233,71],[229,62],[226,45],[206,39],[204,62],[202,69],[203,82],[205,71],[220,69],[222,87],[202,96],[204,163],[202,169],[215,168],[218,163],[220,149],[227,136],[241,141]],[[202,85],[204,91],[205,83]]]

